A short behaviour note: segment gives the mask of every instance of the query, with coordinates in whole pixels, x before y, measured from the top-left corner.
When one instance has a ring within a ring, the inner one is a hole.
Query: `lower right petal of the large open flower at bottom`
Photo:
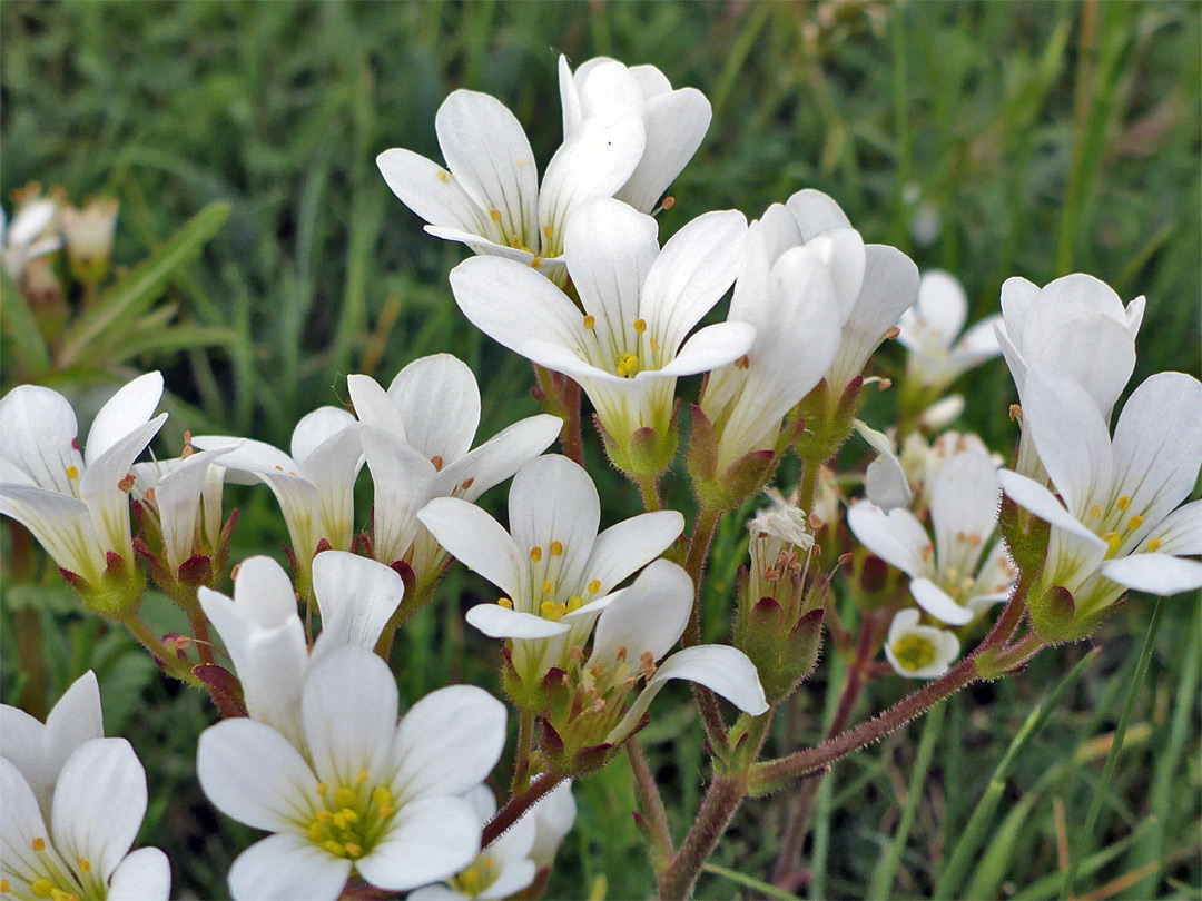
[[[373,885],[403,891],[454,876],[478,848],[480,821],[471,805],[435,795],[405,804],[356,867]]]

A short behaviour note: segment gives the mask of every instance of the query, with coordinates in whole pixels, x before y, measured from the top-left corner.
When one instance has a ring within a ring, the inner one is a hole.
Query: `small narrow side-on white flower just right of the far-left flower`
[[[131,494],[157,518],[173,573],[195,554],[215,553],[221,543],[225,470],[216,461],[231,449],[133,464]]]

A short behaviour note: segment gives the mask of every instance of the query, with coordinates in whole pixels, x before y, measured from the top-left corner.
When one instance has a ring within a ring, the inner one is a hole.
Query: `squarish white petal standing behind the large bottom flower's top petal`
[[[388,617],[400,607],[405,583],[395,569],[341,550],[313,561],[313,592],[321,610],[321,634],[313,660],[340,645],[371,650]]]

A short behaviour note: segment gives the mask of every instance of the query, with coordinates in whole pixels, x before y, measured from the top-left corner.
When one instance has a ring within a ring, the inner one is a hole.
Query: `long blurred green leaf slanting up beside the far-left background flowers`
[[[119,332],[153,304],[167,288],[171,276],[218,233],[230,209],[226,202],[210,203],[137,268],[111,285],[96,306],[67,332],[59,364],[75,363],[99,336],[109,329]]]

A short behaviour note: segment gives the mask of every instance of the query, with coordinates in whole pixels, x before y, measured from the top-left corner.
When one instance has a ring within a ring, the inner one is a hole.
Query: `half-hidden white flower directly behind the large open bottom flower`
[[[345,644],[374,648],[405,585],[383,563],[327,550],[314,557],[313,591],[322,628],[311,656],[292,581],[270,557],[239,565],[232,598],[207,587],[197,592],[233,661],[246,711],[293,744],[302,740],[300,690],[310,664]]]

